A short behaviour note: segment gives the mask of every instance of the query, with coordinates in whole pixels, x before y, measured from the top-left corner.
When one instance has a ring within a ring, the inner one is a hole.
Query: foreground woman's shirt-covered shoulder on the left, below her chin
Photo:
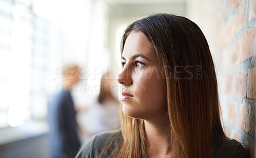
[[[111,138],[116,135],[121,134],[120,130],[113,130],[110,132],[102,132],[100,134],[94,135],[90,138],[79,150],[76,158],[93,158],[99,157],[100,153],[107,145],[107,143],[111,140]]]

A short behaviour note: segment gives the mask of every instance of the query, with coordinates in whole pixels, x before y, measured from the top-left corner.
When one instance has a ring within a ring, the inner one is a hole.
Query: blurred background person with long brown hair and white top
[[[120,128],[119,102],[113,95],[115,86],[110,73],[102,75],[99,90],[99,95],[90,97],[91,103],[84,105],[83,112],[78,115],[84,131],[83,141],[99,132]]]

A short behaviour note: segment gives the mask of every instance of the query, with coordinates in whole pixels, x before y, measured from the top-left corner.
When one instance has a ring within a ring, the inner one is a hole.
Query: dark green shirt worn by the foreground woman
[[[120,134],[120,131],[104,132],[93,136],[84,144],[76,155],[76,158],[98,158],[104,146],[108,141]],[[120,139],[121,140],[121,139]],[[118,143],[115,143],[116,145]],[[111,145],[110,150],[115,150],[116,145]],[[241,143],[230,139],[214,139],[212,145],[213,155],[218,158],[248,158],[248,151],[241,145]]]

